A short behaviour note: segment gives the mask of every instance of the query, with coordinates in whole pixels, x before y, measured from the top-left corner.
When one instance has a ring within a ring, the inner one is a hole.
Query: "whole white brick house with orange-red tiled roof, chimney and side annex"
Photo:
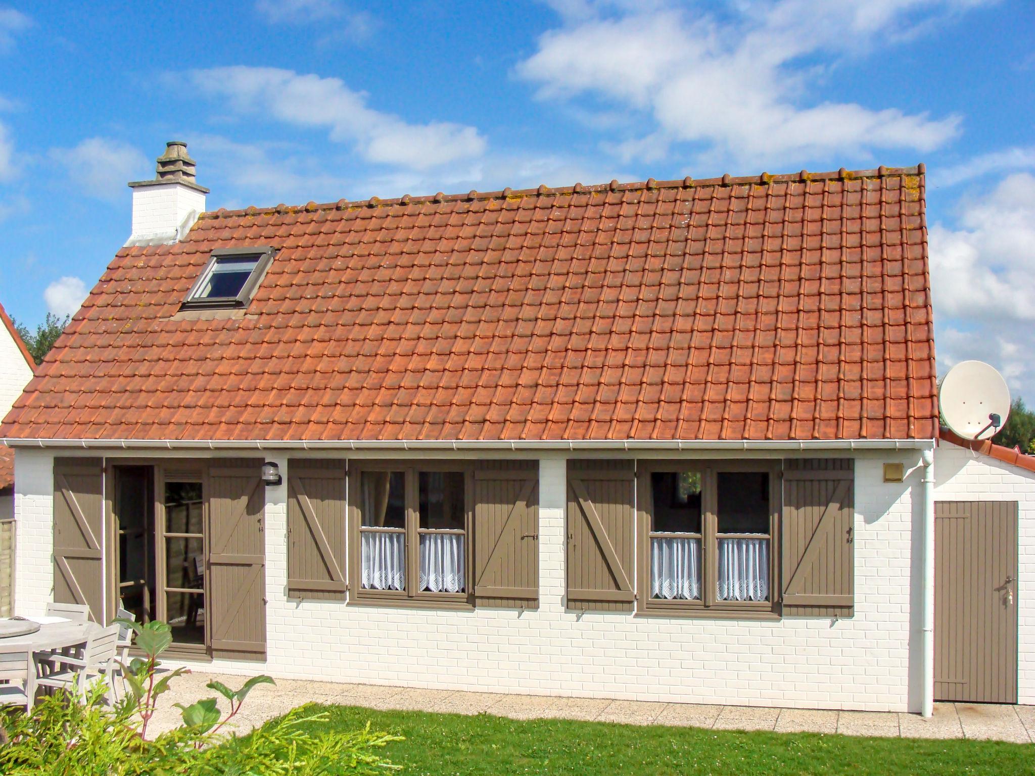
[[[21,613],[275,677],[1035,703],[1032,473],[939,445],[922,166],[216,211],[195,170],[130,184],[0,428]]]

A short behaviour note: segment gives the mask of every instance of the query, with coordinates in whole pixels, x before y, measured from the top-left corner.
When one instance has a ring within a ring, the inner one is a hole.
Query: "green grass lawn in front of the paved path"
[[[323,707],[313,732],[372,728],[405,736],[385,753],[408,776],[484,774],[1035,774],[1035,746],[862,739],[815,734],[639,727],[486,714]]]

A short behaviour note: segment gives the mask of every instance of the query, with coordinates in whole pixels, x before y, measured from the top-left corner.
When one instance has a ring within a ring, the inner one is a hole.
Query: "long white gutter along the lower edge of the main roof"
[[[933,450],[931,439],[854,440],[90,440],[2,439],[9,447],[124,450]]]

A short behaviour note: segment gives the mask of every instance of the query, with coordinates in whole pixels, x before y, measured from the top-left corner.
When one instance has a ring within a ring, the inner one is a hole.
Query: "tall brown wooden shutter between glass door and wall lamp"
[[[215,460],[209,469],[209,623],[212,656],[266,654],[266,488],[262,459]]]

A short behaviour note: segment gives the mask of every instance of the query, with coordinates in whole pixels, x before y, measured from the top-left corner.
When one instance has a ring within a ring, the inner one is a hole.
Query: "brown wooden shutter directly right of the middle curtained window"
[[[539,464],[480,461],[474,472],[474,596],[482,606],[539,600]]]

